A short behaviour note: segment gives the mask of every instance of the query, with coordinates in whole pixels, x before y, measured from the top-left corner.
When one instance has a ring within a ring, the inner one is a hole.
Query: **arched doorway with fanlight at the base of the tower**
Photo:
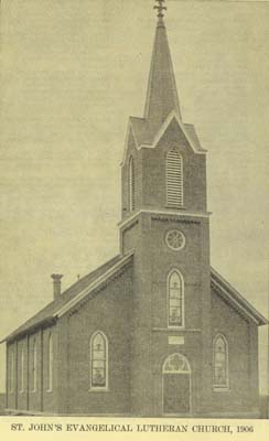
[[[191,411],[191,368],[181,354],[169,355],[163,363],[162,402],[164,415]]]

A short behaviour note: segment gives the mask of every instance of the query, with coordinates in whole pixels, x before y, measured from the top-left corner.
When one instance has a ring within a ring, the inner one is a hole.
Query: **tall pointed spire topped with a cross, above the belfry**
[[[163,12],[166,8],[163,4],[164,0],[155,1],[158,3],[154,6],[154,9],[158,10],[158,22],[144,106],[144,118],[152,130],[158,130],[172,110],[181,119],[174,71],[163,20]]]

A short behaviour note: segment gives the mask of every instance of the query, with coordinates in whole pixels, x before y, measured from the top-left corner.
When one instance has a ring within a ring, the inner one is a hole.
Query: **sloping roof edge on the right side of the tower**
[[[268,320],[261,315],[232,284],[225,280],[215,269],[211,269],[212,286],[215,292],[229,303],[246,319],[252,320],[258,326],[268,324]]]

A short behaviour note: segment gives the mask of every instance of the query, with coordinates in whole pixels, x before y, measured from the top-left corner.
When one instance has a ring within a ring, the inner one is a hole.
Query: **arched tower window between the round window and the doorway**
[[[184,326],[184,283],[177,270],[168,277],[168,325]]]

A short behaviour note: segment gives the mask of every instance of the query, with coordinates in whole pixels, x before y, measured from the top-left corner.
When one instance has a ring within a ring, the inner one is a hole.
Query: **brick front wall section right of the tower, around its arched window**
[[[258,329],[247,322],[214,291],[212,331],[224,334],[228,343],[229,388],[213,391],[214,411],[251,411],[258,409]]]

